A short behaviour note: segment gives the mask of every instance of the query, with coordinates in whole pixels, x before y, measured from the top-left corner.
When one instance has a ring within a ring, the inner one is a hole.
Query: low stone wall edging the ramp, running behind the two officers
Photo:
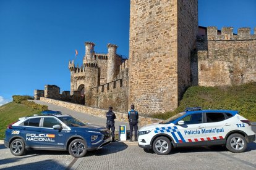
[[[63,102],[60,100],[47,99],[45,97],[41,97],[40,100],[43,102],[51,103],[51,104],[58,105],[61,107],[69,108],[70,110],[80,111],[82,113],[87,113],[87,114],[90,114],[93,116],[99,116],[101,118],[106,118],[106,112],[108,111],[108,110],[103,110],[100,108],[93,108],[93,107],[87,107],[84,105],[77,105],[74,103]],[[114,110],[114,113],[116,114],[117,121],[123,121],[123,122],[128,121],[127,113],[117,112],[115,110]],[[161,121],[163,121],[163,120],[139,116],[139,126],[145,126],[145,125],[151,124],[151,123],[159,123]]]

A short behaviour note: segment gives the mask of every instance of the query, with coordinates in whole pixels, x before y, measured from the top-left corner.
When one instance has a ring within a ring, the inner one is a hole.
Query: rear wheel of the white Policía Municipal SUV
[[[244,152],[247,148],[247,141],[241,134],[231,134],[226,141],[226,148],[234,153]]]

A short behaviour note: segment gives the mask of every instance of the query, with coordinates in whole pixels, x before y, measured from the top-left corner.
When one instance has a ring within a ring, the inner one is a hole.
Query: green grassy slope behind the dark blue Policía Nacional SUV
[[[4,139],[6,127],[17,121],[20,117],[40,113],[39,110],[15,102],[7,103],[0,107],[0,139]]]

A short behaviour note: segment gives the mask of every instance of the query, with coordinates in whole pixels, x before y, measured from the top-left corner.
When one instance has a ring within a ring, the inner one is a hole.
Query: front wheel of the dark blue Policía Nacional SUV
[[[87,153],[87,144],[82,139],[75,139],[69,144],[69,154],[75,158],[85,156]]]

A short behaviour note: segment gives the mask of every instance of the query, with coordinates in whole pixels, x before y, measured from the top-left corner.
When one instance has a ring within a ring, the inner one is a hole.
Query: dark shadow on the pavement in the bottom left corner
[[[66,167],[62,164],[57,163],[53,160],[38,161],[35,163],[19,164],[17,166],[11,166],[4,169],[65,169]]]

